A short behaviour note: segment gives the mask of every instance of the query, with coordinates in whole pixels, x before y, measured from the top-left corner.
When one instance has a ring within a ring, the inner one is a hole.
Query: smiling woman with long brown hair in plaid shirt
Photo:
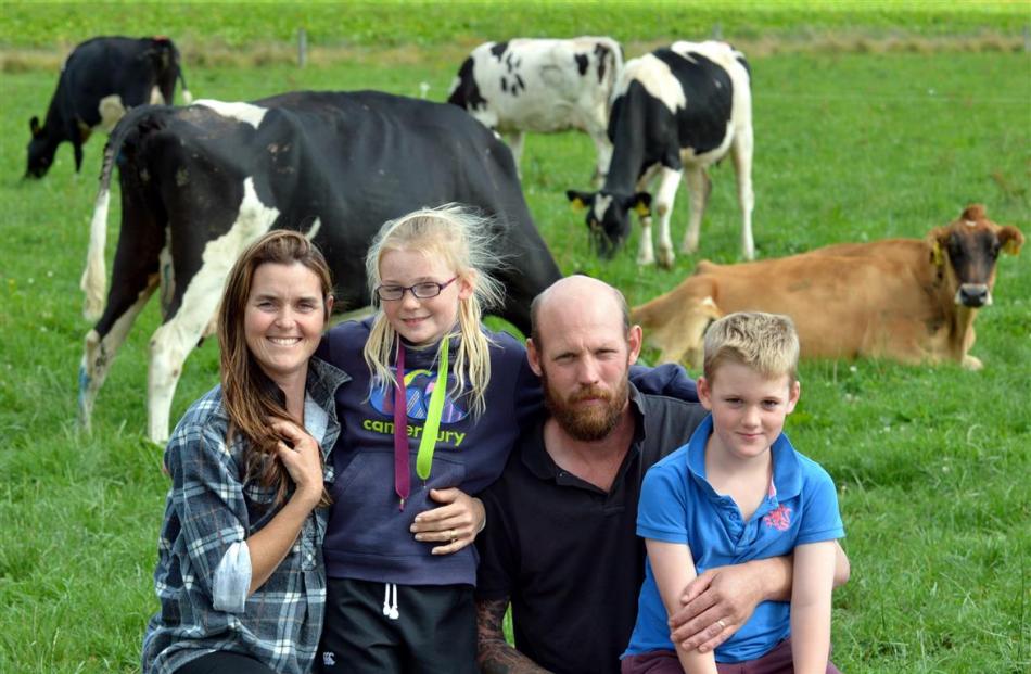
[[[336,441],[333,395],[348,379],[311,358],[331,289],[322,255],[292,231],[259,239],[229,274],[221,385],[165,449],[173,485],[144,674],[311,669],[326,600],[322,448]]]

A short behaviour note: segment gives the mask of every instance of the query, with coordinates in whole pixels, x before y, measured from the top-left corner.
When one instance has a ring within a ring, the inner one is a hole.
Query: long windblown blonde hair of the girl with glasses
[[[486,408],[486,389],[491,381],[492,342],[481,329],[481,320],[485,309],[500,306],[504,301],[501,284],[487,272],[500,264],[500,257],[492,252],[493,225],[488,218],[458,204],[421,208],[385,222],[372,240],[365,262],[369,290],[377,306],[380,260],[389,251],[418,251],[429,258],[442,259],[459,281],[466,281],[473,289],[471,296],[459,301],[458,348],[451,360],[456,381],[449,393],[457,395],[468,386],[475,416]],[[444,339],[451,336],[446,334]],[[393,379],[390,364],[394,360],[397,340],[397,333],[380,307],[362,352],[373,381]],[[444,377],[446,381],[446,374]]]

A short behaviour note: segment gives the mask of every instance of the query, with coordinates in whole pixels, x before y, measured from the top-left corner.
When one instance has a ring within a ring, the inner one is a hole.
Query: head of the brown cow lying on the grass
[[[928,243],[931,262],[946,276],[949,287],[956,289],[956,304],[976,309],[992,304],[1000,251],[1018,254],[1023,234],[1011,225],[992,222],[984,206],[971,204],[958,220],[932,229]]]

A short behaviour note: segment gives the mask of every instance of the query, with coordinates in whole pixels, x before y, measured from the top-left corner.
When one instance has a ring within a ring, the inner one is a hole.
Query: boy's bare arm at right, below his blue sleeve
[[[830,593],[833,541],[794,548],[791,590],[791,656],[798,674],[824,674],[830,657]]]

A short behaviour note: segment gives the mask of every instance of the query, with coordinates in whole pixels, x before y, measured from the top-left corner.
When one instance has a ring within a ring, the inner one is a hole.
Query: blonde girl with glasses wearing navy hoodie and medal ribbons
[[[483,514],[466,494],[497,479],[540,403],[523,346],[481,325],[501,300],[491,229],[454,205],[386,222],[366,258],[376,315],[319,351],[355,377],[336,395],[326,672],[476,671]]]

